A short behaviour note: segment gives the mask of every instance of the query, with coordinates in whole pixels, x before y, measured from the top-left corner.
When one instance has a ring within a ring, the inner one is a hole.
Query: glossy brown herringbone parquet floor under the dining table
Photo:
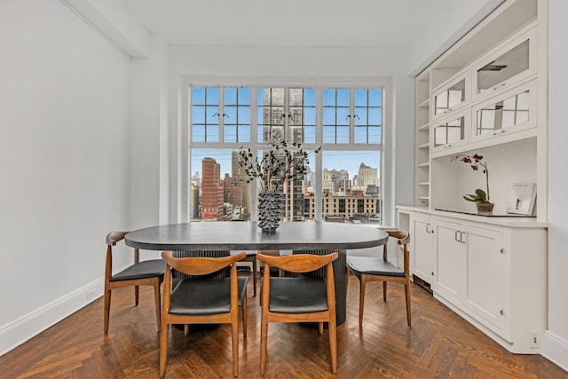
[[[249,281],[251,286],[252,280]],[[338,328],[338,371],[331,374],[327,332],[296,324],[271,324],[266,378],[568,378],[540,355],[514,355],[440,304],[412,288],[413,326],[406,326],[404,291],[367,286],[365,321],[358,325],[359,282],[350,277],[348,314]],[[240,338],[240,377],[259,369],[260,308],[248,288],[248,336]],[[1,378],[156,378],[158,334],[154,299],[142,290],[114,291],[110,330],[103,334],[99,298],[66,320],[0,357]],[[170,330],[168,378],[232,377],[228,326]]]

